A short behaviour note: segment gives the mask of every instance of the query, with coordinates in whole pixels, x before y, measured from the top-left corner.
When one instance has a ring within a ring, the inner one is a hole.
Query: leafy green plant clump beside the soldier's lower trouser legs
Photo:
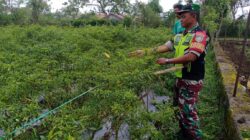
[[[174,118],[174,110],[170,104],[157,106],[160,112],[149,113],[138,111],[131,114],[131,139],[175,139],[178,123]],[[138,120],[139,118],[139,120]]]

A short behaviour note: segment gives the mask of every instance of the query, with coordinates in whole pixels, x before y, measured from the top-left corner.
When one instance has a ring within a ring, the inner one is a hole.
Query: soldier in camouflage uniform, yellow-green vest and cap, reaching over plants
[[[167,50],[175,51],[175,58],[159,58],[157,63],[184,66],[176,72],[177,118],[186,139],[200,140],[199,117],[196,103],[202,89],[205,74],[205,55],[209,37],[198,24],[199,5],[185,5],[179,12],[181,24],[186,30],[177,34],[174,41],[166,44]]]

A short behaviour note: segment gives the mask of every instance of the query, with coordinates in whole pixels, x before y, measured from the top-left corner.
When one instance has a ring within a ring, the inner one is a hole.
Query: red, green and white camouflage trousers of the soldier
[[[196,107],[202,85],[202,80],[192,81],[178,79],[176,81],[176,96],[178,99],[176,117],[185,135],[193,140],[201,140],[202,137]]]

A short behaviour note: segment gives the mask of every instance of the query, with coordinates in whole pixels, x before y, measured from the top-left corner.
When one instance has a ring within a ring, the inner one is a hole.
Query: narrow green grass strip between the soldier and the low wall
[[[224,87],[220,76],[220,71],[217,69],[215,54],[212,46],[209,46],[209,53],[206,56],[206,76],[198,110],[201,119],[201,129],[204,133],[204,139],[214,140],[223,138],[224,132],[224,115],[226,107],[223,103]]]

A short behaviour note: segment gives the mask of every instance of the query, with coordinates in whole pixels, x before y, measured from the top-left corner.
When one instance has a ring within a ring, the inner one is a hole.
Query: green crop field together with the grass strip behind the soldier
[[[7,26],[0,28],[0,130],[16,139],[93,138],[109,119],[117,132],[126,123],[131,139],[176,139],[179,131],[171,101],[148,112],[140,93],[172,97],[174,75],[155,76],[167,67],[157,54],[128,58],[130,51],[161,45],[165,28]],[[204,139],[223,137],[219,107],[223,87],[212,46],[206,57],[205,86],[198,103]],[[16,128],[96,87],[26,131]]]

